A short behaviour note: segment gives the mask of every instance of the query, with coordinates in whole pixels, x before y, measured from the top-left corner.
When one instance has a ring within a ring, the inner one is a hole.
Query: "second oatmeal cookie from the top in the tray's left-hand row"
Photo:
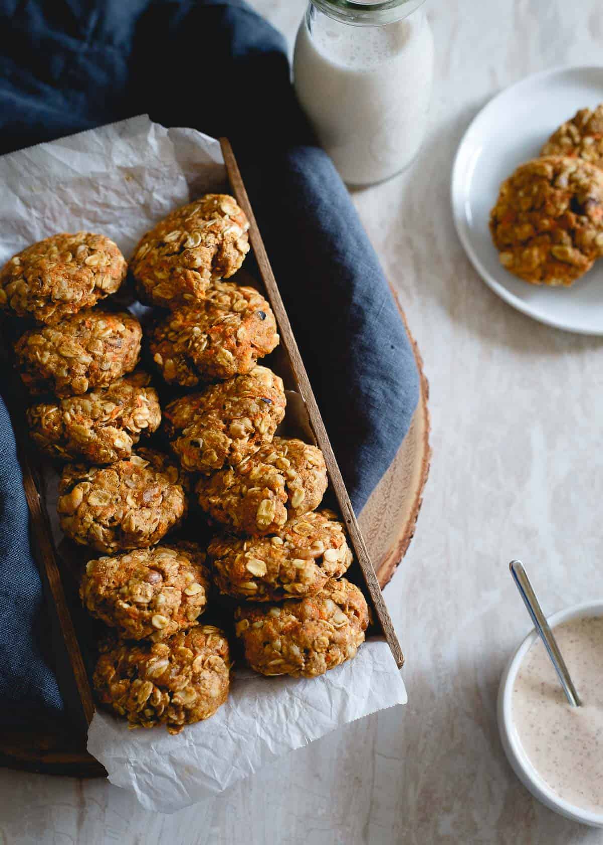
[[[139,321],[128,313],[81,311],[19,337],[17,367],[34,395],[81,395],[133,370],[142,335]]]

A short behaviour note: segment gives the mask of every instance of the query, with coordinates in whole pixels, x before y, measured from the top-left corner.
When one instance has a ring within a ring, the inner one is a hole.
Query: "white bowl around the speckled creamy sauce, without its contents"
[[[554,613],[547,619],[551,628],[553,628],[562,622],[568,622],[569,619],[579,619],[584,616],[603,616],[603,599],[595,602],[575,604],[571,608]],[[515,651],[513,657],[508,662],[507,668],[502,673],[497,703],[498,730],[501,735],[502,747],[519,780],[542,804],[545,804],[550,810],[555,810],[559,815],[564,815],[567,819],[579,821],[583,825],[603,827],[603,813],[591,813],[589,810],[584,810],[582,807],[577,807],[576,804],[562,799],[557,793],[553,792],[551,787],[541,778],[534,766],[532,766],[530,758],[525,754],[519,740],[517,728],[515,728],[513,723],[513,684],[515,683],[515,678],[522,660],[530,646],[537,639],[538,634],[533,630],[531,634],[526,636],[518,650]]]

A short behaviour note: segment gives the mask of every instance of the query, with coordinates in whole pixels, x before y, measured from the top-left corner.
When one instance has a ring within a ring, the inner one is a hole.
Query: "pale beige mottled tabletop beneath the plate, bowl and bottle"
[[[432,470],[416,537],[385,591],[408,706],[169,817],[104,782],[0,771],[0,842],[603,842],[603,831],[530,798],[494,717],[503,665],[529,628],[508,560],[523,556],[550,612],[603,594],[603,341],[536,324],[495,297],[464,257],[448,201],[475,112],[525,74],[600,63],[603,17],[598,0],[427,2],[437,50],[429,137],[409,172],[355,194],[431,384]],[[255,4],[292,37],[302,0]]]

